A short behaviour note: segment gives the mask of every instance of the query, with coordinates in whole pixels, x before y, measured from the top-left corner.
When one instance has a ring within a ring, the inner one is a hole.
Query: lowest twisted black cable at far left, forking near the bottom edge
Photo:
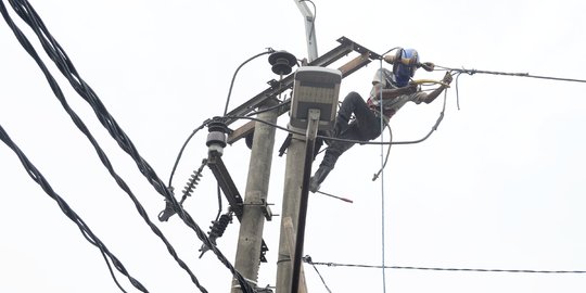
[[[2,1],[0,1],[0,12],[2,14],[4,14],[7,11],[5,11],[5,8],[4,8],[4,3]],[[49,182],[47,181],[47,179],[44,178],[44,176],[42,176],[42,174],[35,167],[35,165],[33,165],[33,163],[30,163],[30,161],[28,160],[28,157],[23,153],[23,151],[12,141],[12,139],[10,138],[10,136],[7,133],[7,131],[4,130],[4,128],[0,125],[0,140],[2,140],[10,149],[12,149],[12,151],[18,156],[18,160],[21,161],[21,163],[23,164],[25,170],[28,173],[28,175],[30,176],[30,178],[33,178],[33,180],[35,182],[37,182],[41,188],[42,190],[49,195],[51,196],[51,199],[53,199],[58,204],[59,204],[59,207],[61,208],[61,211],[63,212],[63,214],[65,214],[65,216],[67,216],[73,222],[75,222],[77,225],[77,227],[79,228],[79,230],[81,231],[81,234],[94,246],[97,246],[100,252],[102,253],[102,255],[104,256],[104,259],[106,262],[106,265],[109,267],[109,270],[112,275],[112,278],[114,279],[114,282],[116,283],[116,285],[123,291],[123,292],[126,292],[122,285],[118,283],[118,281],[116,280],[116,277],[114,276],[114,272],[112,271],[112,268],[110,266],[110,262],[109,259],[112,262],[112,264],[114,265],[114,267],[119,271],[122,272],[124,276],[126,276],[128,278],[128,280],[130,281],[130,283],[138,290],[140,290],[141,292],[149,292],[138,280],[136,280],[135,278],[132,278],[128,271],[126,270],[126,268],[124,267],[124,265],[122,264],[120,260],[118,260],[118,258],[112,254],[106,245],[91,231],[91,229],[86,225],[86,222],[77,215],[77,213],[75,213],[71,207],[69,205],[53,190],[53,188],[51,187],[51,184],[49,184]]]

